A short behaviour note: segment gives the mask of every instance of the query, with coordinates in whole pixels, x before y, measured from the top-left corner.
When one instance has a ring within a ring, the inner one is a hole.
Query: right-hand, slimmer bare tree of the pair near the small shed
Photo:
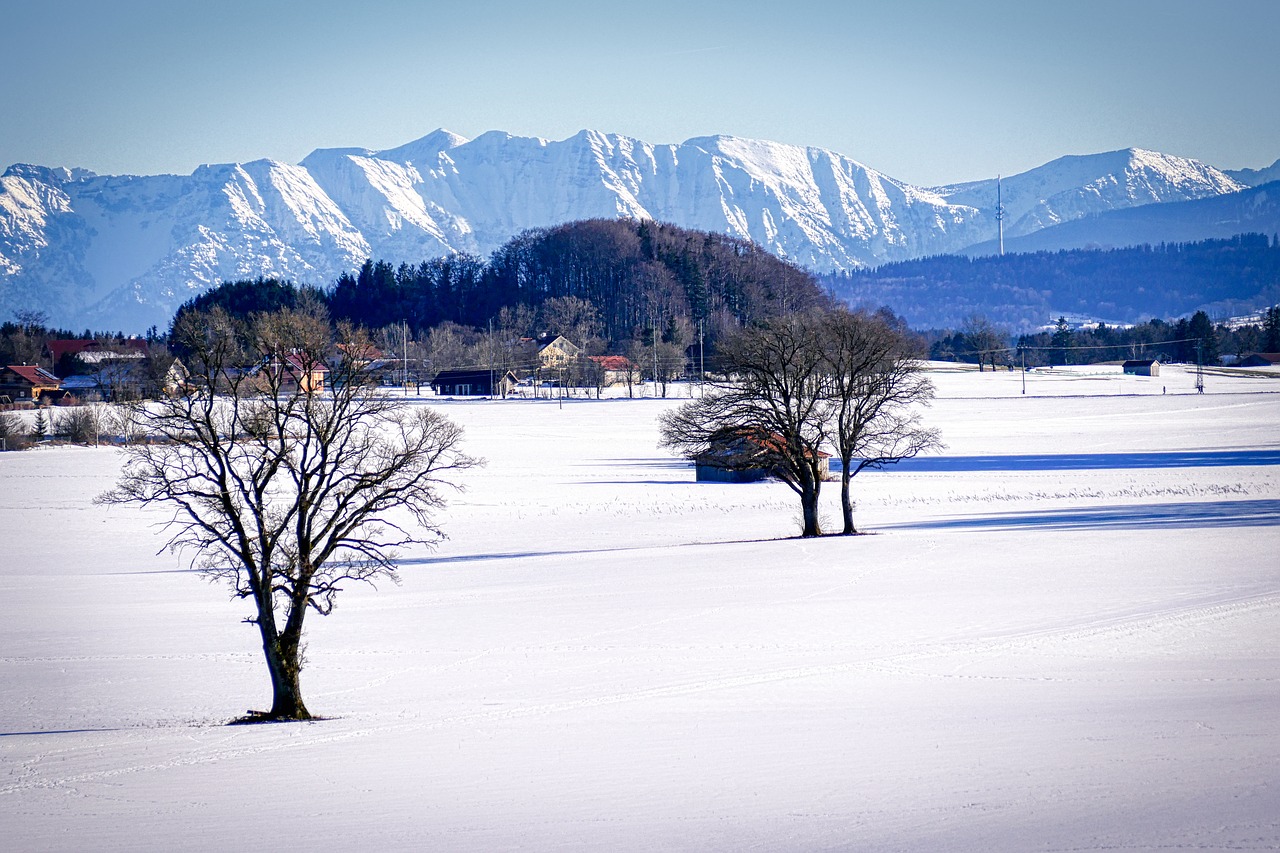
[[[910,336],[882,315],[844,310],[829,314],[824,327],[828,432],[841,461],[842,533],[849,535],[858,533],[850,482],[859,471],[942,444],[911,411],[933,398],[933,383],[922,374]]]

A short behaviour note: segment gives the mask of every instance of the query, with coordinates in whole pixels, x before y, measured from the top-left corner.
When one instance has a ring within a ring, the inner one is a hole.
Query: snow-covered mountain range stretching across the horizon
[[[1254,184],[1277,174],[1280,161],[1228,173],[1140,149],[1061,158],[1002,179],[1006,250],[1272,231],[1276,190]],[[0,318],[35,309],[55,324],[141,330],[221,280],[329,286],[366,257],[488,255],[527,228],[600,216],[730,233],[815,272],[851,270],[989,251],[996,181],[916,187],[823,149],[595,131],[435,131],[385,151],[189,175],[14,165],[0,177]]]

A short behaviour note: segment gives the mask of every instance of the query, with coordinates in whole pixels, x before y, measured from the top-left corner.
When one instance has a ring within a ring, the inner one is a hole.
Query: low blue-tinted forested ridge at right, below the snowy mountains
[[[1245,314],[1280,302],[1280,241],[1265,234],[1112,250],[940,255],[820,278],[854,305],[888,305],[915,328],[974,314],[1014,330],[1066,316],[1107,323]]]

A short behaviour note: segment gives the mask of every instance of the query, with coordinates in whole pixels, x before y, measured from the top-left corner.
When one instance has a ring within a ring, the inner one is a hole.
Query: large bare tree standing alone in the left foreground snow
[[[174,341],[202,391],[136,410],[150,441],[124,448],[119,483],[99,498],[172,508],[168,546],[252,602],[246,621],[273,698],[248,719],[311,717],[300,686],[306,613],[332,612],[351,581],[396,580],[396,548],[442,538],[447,478],[476,464],[457,425],[370,386],[358,359],[367,338],[338,337],[348,346],[333,350],[315,306],[248,329],[220,309],[180,318]]]

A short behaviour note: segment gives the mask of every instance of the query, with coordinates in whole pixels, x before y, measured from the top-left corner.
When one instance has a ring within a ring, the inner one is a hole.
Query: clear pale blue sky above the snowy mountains
[[[189,173],[444,127],[832,149],[919,184],[1280,158],[1280,0],[12,0],[0,169]]]

